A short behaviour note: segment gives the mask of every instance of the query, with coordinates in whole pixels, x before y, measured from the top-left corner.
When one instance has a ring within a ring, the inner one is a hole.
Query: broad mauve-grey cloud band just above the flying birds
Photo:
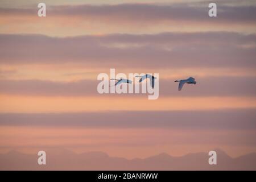
[[[233,32],[52,38],[0,35],[0,63],[97,67],[256,67],[256,35]],[[129,64],[127,64],[129,63]]]

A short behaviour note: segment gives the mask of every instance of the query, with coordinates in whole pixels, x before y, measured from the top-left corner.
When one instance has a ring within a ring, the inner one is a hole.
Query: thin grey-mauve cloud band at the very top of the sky
[[[84,19],[109,23],[156,23],[168,20],[186,22],[255,22],[256,6],[224,6],[217,3],[218,16],[209,19],[209,2],[176,3],[174,5],[153,4],[119,4],[119,5],[79,5],[79,6],[48,6],[47,15],[76,16]],[[2,15],[34,15],[38,9],[0,9]]]

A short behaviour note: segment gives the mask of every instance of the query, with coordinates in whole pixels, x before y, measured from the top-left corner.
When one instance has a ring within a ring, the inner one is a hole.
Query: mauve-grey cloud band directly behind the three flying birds
[[[255,77],[197,78],[197,85],[185,85],[185,92],[177,91],[174,80],[160,79],[159,96],[256,96]],[[100,81],[53,82],[42,80],[0,80],[0,94],[30,96],[113,96],[98,94]],[[138,94],[133,94],[138,96]],[[122,96],[124,96],[122,94]],[[118,97],[116,94],[113,97]],[[129,94],[129,97],[130,94]]]

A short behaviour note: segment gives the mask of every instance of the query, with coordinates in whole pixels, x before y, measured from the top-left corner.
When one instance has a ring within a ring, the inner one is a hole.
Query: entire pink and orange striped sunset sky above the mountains
[[[209,1],[44,2],[0,2],[1,153],[256,152],[255,1],[216,1],[216,18]],[[158,100],[98,94],[110,68],[159,73]]]

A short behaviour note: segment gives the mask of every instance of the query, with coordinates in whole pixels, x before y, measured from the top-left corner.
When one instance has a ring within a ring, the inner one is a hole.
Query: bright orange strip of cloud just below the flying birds
[[[255,97],[36,97],[1,95],[1,113],[62,113],[108,110],[212,110],[255,108]]]

